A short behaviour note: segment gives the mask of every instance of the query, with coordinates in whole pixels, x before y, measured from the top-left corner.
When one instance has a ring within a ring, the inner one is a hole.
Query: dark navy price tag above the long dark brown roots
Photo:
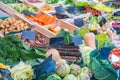
[[[59,46],[64,44],[64,37],[54,37],[50,38],[50,46]]]

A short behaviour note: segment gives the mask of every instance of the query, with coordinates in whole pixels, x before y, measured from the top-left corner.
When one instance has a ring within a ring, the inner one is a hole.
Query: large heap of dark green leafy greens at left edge
[[[45,53],[46,51],[43,49],[27,46],[15,35],[6,35],[0,39],[0,56],[2,56],[0,62],[5,65],[13,66],[18,64],[20,60],[40,63],[37,59],[45,59]]]

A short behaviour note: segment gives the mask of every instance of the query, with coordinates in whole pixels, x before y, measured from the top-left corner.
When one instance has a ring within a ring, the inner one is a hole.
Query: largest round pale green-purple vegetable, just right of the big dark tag
[[[60,77],[65,77],[70,73],[70,67],[65,62],[60,62],[57,64],[56,68],[56,74],[58,74]]]

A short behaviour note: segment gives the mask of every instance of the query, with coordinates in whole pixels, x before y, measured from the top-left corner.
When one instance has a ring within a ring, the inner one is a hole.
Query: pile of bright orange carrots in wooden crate
[[[31,21],[37,22],[40,25],[49,25],[56,21],[56,16],[49,16],[44,13],[38,13],[36,16],[25,15],[25,17]]]

